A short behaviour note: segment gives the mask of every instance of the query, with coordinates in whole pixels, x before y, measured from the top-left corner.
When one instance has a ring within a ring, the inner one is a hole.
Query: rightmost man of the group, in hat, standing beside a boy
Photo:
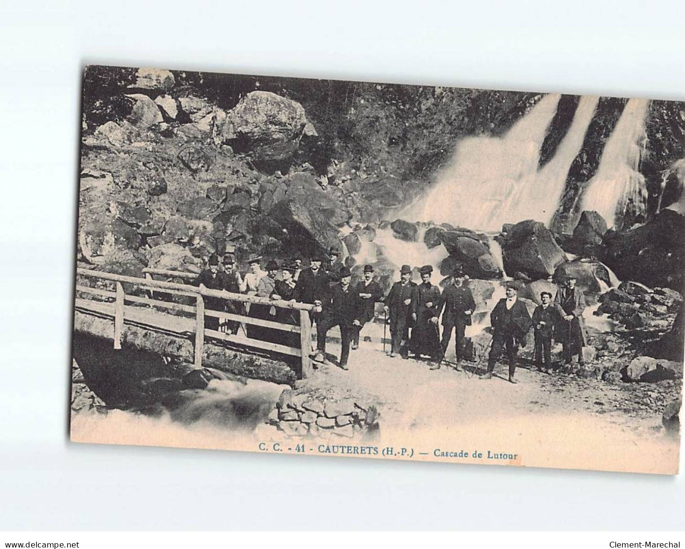
[[[583,347],[587,345],[585,333],[585,295],[583,290],[576,288],[575,277],[567,276],[559,286],[554,303],[563,311],[562,321],[558,324],[557,340],[562,343],[564,362],[571,363],[573,355],[578,355],[578,364],[585,363]]]

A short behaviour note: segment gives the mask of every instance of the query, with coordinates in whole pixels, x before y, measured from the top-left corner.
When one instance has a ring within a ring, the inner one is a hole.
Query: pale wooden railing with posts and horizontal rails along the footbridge
[[[97,314],[105,314],[114,318],[114,348],[121,348],[121,332],[127,320],[136,323],[149,323],[151,327],[159,329],[171,329],[177,332],[194,332],[195,333],[195,365],[200,367],[202,364],[203,348],[208,338],[228,342],[230,344],[238,344],[248,348],[257,348],[269,351],[270,353],[281,353],[299,357],[302,366],[302,376],[307,377],[312,372],[312,362],[310,359],[311,345],[312,345],[312,323],[310,320],[310,311],[314,309],[314,305],[308,303],[296,303],[291,301],[273,300],[258,296],[250,296],[245,294],[234,294],[232,292],[225,292],[223,290],[210,290],[203,285],[192,286],[188,284],[178,284],[167,281],[159,281],[152,279],[152,274],[164,275],[167,277],[182,277],[182,278],[197,278],[197,275],[186,272],[177,271],[162,271],[149,269],[145,272],[145,278],[127,277],[124,275],[114,275],[109,272],[101,272],[96,270],[77,268],[77,277],[85,277],[88,280],[106,281],[106,283],[114,284],[114,291],[103,288],[95,288],[90,285],[83,285],[77,283],[76,290],[82,294],[89,296],[98,296],[104,298],[105,301],[95,301],[93,299],[76,298],[76,307],[80,309],[87,309]],[[146,296],[134,295],[124,291],[124,285],[134,285],[134,288],[142,290],[140,293],[147,294]],[[158,298],[155,298],[155,292]],[[160,294],[171,294],[177,296],[185,296],[189,300],[195,301],[195,305],[187,305],[184,303],[175,303],[173,301],[165,301],[159,298]],[[286,324],[284,322],[277,322],[275,320],[264,320],[262,318],[253,318],[242,314],[228,313],[226,311],[217,311],[207,309],[205,305],[205,298],[219,298],[226,302],[232,303],[249,303],[254,305],[269,305],[269,307],[276,307],[279,309],[288,309],[291,311],[298,311],[299,325]],[[126,303],[138,304],[137,307],[127,305]],[[147,305],[149,309],[155,311],[157,308],[170,309],[177,311],[185,316],[170,316],[171,320],[163,320],[162,318],[155,319],[154,316],[143,318],[141,311],[147,309],[141,308],[140,305]],[[188,316],[190,315],[190,317]],[[269,328],[286,333],[299,333],[299,346],[290,347],[276,342],[259,340],[238,333],[223,333],[221,331],[209,329],[205,327],[205,318],[207,316],[219,318],[221,320],[234,320],[241,324],[251,324],[263,328]]]

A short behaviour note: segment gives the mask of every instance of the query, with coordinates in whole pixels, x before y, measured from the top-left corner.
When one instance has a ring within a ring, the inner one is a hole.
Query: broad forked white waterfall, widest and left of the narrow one
[[[538,171],[540,148],[556,114],[559,94],[548,94],[502,138],[459,142],[450,166],[423,199],[397,217],[450,222],[495,232],[503,223],[536,219],[547,224],[580,151],[597,97],[582,97],[554,157]]]

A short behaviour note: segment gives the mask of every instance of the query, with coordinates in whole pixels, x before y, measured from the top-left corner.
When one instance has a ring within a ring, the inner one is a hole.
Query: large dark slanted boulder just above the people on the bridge
[[[338,231],[325,216],[299,200],[280,201],[271,208],[269,216],[283,227],[282,240],[293,251],[327,254],[331,246],[343,247]]]

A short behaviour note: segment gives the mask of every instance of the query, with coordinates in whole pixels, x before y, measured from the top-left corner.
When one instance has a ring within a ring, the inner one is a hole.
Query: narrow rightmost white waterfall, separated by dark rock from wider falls
[[[588,181],[582,209],[595,210],[608,227],[630,205],[643,206],[645,177],[639,172],[647,135],[645,116],[649,99],[629,99],[604,146],[595,176]]]

